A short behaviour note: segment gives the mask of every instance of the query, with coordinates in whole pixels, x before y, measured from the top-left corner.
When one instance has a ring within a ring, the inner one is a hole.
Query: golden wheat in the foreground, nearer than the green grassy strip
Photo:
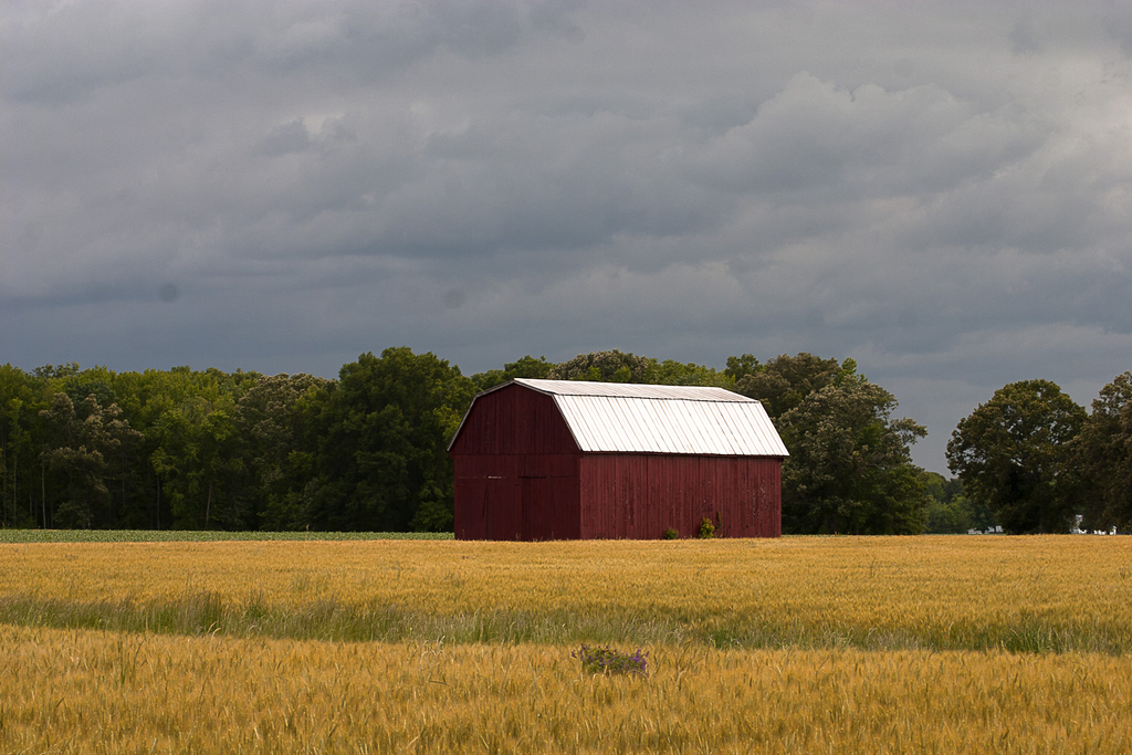
[[[1126,753],[1132,659],[653,649],[0,626],[5,753]]]

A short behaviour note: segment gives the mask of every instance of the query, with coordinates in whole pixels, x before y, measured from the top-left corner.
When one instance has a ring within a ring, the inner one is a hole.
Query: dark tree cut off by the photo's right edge
[[[1132,371],[1100,389],[1074,451],[1086,526],[1132,526]]]

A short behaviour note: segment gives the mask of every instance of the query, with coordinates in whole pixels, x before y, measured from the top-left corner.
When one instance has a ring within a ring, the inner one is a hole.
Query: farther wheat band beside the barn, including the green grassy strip
[[[326,641],[1132,651],[1132,539],[0,546],[0,621]]]

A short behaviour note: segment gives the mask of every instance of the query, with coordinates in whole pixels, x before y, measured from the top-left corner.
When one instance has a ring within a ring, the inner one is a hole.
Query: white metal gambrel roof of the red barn
[[[723,388],[516,378],[490,391],[512,384],[554,397],[583,452],[789,455],[763,405]]]

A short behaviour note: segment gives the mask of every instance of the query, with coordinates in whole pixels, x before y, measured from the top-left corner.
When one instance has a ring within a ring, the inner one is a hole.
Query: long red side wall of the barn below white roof
[[[703,517],[724,538],[782,534],[782,463],[747,456],[593,454],[581,461],[582,538],[695,537]]]

